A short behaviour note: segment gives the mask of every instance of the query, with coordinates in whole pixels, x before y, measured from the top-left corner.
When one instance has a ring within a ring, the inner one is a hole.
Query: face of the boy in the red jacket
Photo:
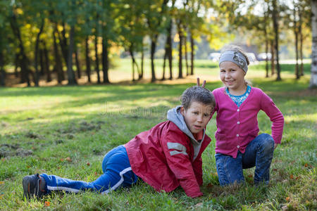
[[[186,110],[180,109],[180,113],[184,116],[185,123],[192,134],[197,134],[206,127],[212,111],[212,106],[195,101],[190,103]]]

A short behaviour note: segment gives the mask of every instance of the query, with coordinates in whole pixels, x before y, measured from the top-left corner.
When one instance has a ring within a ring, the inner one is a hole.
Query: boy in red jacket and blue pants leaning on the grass
[[[202,196],[201,153],[211,139],[205,133],[215,106],[213,94],[203,87],[189,87],[182,106],[168,110],[168,121],[109,151],[96,181],[73,181],[55,175],[34,174],[23,178],[25,198],[41,198],[51,191],[108,193],[142,179],[156,191],[170,192],[179,185],[187,196]]]

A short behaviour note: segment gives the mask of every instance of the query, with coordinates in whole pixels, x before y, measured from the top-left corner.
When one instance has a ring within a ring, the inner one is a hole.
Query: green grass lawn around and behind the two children
[[[196,64],[200,77],[218,75],[214,63]],[[27,174],[97,179],[106,152],[166,120],[167,110],[178,105],[182,91],[193,84],[1,88],[0,210],[281,210],[285,206],[316,210],[317,98],[316,91],[307,89],[309,72],[296,81],[294,65],[283,66],[283,80],[275,82],[275,78],[263,78],[263,67],[251,66],[249,79],[273,98],[285,116],[268,187],[252,185],[254,169],[244,171],[245,185],[219,186],[213,117],[207,127],[213,141],[203,154],[201,198],[188,198],[182,188],[157,193],[147,184],[137,184],[106,196],[56,193],[24,201],[21,181]],[[218,81],[206,85],[211,90],[220,86]],[[261,132],[271,133],[265,113],[258,117]]]

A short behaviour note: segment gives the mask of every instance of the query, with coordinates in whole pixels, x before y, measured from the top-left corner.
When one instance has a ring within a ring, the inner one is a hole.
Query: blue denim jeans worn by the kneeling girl
[[[252,140],[245,152],[237,153],[237,158],[217,153],[216,167],[220,186],[244,182],[243,169],[256,167],[254,170],[254,184],[270,179],[270,166],[274,152],[274,140],[269,134],[260,134]]]

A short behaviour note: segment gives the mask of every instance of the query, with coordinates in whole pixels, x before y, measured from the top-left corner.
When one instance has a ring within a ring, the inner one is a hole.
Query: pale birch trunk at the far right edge
[[[313,44],[311,46],[311,80],[309,88],[317,88],[317,0],[311,1],[311,32]]]

